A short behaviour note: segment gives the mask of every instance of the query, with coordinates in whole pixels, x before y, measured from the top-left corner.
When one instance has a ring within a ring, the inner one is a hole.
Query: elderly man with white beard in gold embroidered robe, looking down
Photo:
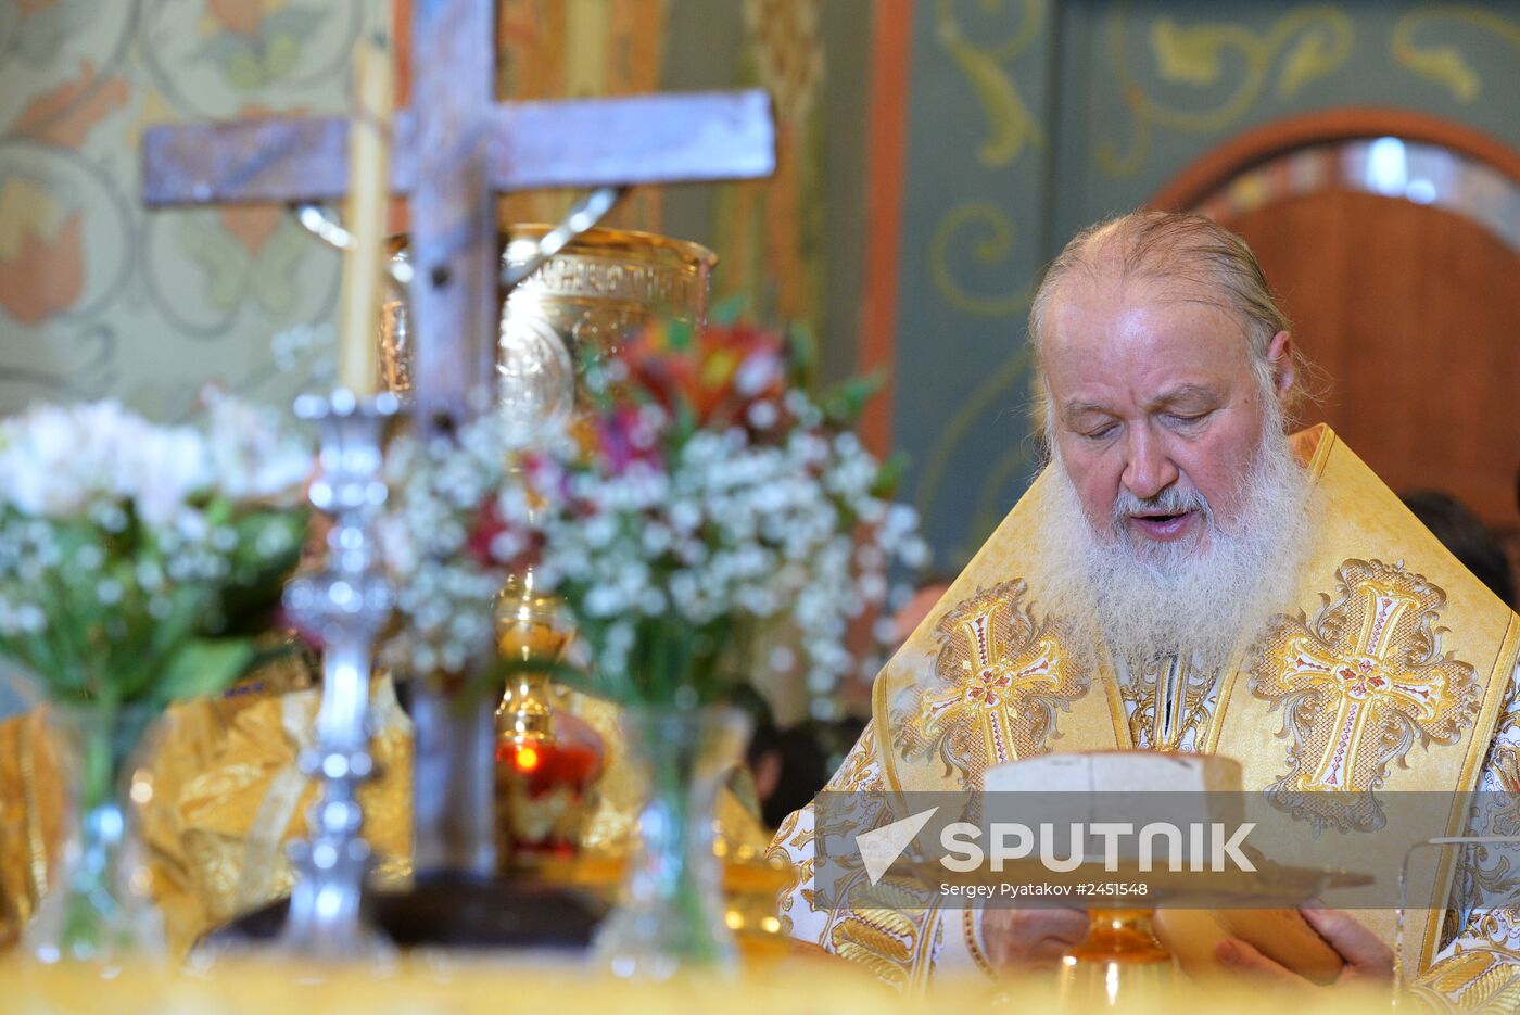
[[[1233,757],[1246,790],[1321,808],[1520,786],[1520,617],[1327,427],[1289,436],[1301,360],[1245,242],[1190,214],[1091,226],[1047,270],[1029,334],[1049,465],[883,667],[828,790],[976,790],[993,766],[1113,749]],[[1347,713],[1286,646],[1436,690]],[[772,846],[798,871],[787,928],[889,982],[1040,966],[1087,933],[1079,910],[906,904],[863,874],[824,906],[815,831],[804,808]],[[1391,979],[1386,921],[1303,915],[1344,959],[1338,983]],[[1414,931],[1447,1003],[1520,991],[1514,910]],[[1306,985],[1243,941],[1214,957]]]

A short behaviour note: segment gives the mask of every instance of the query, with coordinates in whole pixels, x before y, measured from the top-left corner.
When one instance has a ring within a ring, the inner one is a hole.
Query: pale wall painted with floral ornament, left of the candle
[[[132,194],[137,141],[154,122],[230,117],[249,105],[340,109],[363,9],[310,0],[0,5],[5,409],[111,394],[182,416],[207,381],[287,403],[304,365],[275,368],[268,336],[322,318],[336,295],[336,258],[292,236],[275,208],[149,219]],[[257,88],[236,88],[214,53],[199,53],[220,36],[246,47],[260,33],[290,35],[281,21],[289,11],[319,21],[299,33],[299,59]]]

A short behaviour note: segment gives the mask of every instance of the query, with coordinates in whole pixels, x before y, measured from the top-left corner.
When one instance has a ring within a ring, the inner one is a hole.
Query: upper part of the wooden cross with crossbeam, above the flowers
[[[769,176],[763,91],[497,103],[492,0],[413,0],[412,108],[398,112],[392,190],[412,202],[413,398],[453,425],[496,377],[497,191]],[[334,201],[348,122],[160,126],[143,140],[150,207]]]

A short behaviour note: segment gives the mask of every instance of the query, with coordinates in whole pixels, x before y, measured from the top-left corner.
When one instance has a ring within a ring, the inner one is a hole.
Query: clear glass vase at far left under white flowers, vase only
[[[120,965],[166,953],[138,822],[140,807],[152,799],[152,778],[138,764],[160,714],[147,707],[49,707],[67,811],[47,889],[23,939],[41,962]]]

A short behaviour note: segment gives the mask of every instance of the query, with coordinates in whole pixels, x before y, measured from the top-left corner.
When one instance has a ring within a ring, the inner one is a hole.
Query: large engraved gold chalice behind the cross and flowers
[[[391,251],[394,266],[407,263],[404,237]],[[617,357],[644,324],[701,325],[716,263],[704,246],[651,232],[590,228],[567,240],[558,226],[506,228],[502,274],[520,281],[502,305],[497,407],[514,439],[529,447],[572,419],[585,368]],[[398,295],[385,304],[380,330],[391,391],[410,391],[412,356]],[[497,600],[497,641],[515,669],[497,711],[499,869],[573,855],[594,810],[600,735],[552,704],[549,670],[572,634],[558,603],[534,590],[530,571],[508,582]]]

